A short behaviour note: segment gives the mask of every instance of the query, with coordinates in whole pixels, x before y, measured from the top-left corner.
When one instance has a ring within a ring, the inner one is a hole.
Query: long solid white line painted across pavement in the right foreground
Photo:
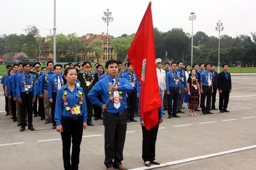
[[[143,166],[143,167],[138,167],[138,168],[134,168],[131,170],[159,168],[159,167],[170,166],[170,165],[174,165],[174,164],[190,162],[190,161],[195,161],[195,160],[199,160],[199,159],[205,159],[205,158],[210,158],[210,157],[214,157],[214,156],[220,156],[220,155],[230,154],[230,153],[234,153],[234,152],[249,150],[249,149],[253,149],[253,148],[256,148],[256,145],[252,145],[252,146],[245,147],[245,148],[238,148],[238,149],[234,149],[234,150],[224,151],[224,152],[219,152],[219,153],[215,153],[215,154],[202,155],[202,156],[193,157],[193,158],[187,158],[187,159],[181,159],[181,160],[172,161],[172,162],[161,163],[160,165],[151,165],[151,167]]]

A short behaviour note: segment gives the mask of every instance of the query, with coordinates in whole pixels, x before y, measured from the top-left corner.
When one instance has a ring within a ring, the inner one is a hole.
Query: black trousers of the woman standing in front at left
[[[80,144],[82,141],[83,118],[78,120],[61,119],[63,132],[62,139],[62,157],[64,168],[66,170],[78,169]],[[72,154],[70,163],[70,147],[72,139]]]

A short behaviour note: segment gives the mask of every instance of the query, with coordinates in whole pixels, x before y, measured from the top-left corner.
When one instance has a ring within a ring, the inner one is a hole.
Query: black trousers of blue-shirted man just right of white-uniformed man
[[[179,100],[179,89],[169,88],[170,95],[168,95],[168,115],[176,115]]]

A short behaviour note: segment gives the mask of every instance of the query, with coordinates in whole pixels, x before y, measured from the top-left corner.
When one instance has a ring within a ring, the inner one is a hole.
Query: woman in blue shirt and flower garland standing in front
[[[64,86],[57,92],[55,116],[56,131],[61,133],[62,156],[65,169],[78,169],[83,129],[87,129],[87,107],[83,89],[76,85],[77,73],[73,67],[64,71]],[[72,138],[72,158],[70,147]]]

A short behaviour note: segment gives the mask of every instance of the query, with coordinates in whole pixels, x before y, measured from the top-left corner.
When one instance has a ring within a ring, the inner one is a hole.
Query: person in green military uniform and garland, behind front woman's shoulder
[[[80,81],[80,87],[83,89],[84,95],[86,96],[86,105],[87,105],[87,125],[94,126],[92,124],[92,115],[93,115],[93,104],[88,99],[88,93],[92,89],[95,84],[94,75],[91,73],[92,65],[90,61],[86,61],[82,63],[82,67],[76,69],[77,71],[77,79]],[[79,72],[79,70],[83,70],[84,72]]]

